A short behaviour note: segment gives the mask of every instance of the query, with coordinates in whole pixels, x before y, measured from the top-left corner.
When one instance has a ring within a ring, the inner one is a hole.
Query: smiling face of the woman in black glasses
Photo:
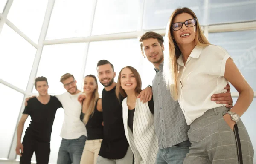
[[[190,19],[193,19],[192,15],[188,13],[181,13],[175,16],[175,18],[172,21],[172,24],[177,22],[185,22],[186,20]],[[180,30],[174,31],[172,29],[172,34],[174,40],[179,46],[195,44],[196,26],[187,27],[185,24],[182,24]]]

